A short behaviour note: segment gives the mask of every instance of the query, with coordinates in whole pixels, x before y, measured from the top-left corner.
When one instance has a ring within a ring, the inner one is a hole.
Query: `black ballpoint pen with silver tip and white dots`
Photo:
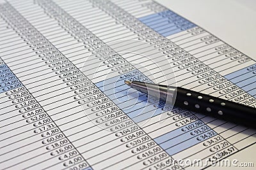
[[[256,108],[227,101],[182,87],[157,85],[141,81],[125,81],[133,89],[157,97],[166,103],[173,104],[196,113],[220,118],[235,124],[256,128]]]

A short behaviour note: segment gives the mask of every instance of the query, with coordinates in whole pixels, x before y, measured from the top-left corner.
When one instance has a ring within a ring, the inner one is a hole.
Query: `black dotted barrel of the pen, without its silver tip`
[[[193,90],[177,87],[175,106],[256,128],[256,109]]]

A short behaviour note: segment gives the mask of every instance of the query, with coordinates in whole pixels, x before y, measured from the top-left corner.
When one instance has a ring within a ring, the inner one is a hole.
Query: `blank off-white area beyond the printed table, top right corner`
[[[157,2],[256,59],[256,1],[157,0]]]

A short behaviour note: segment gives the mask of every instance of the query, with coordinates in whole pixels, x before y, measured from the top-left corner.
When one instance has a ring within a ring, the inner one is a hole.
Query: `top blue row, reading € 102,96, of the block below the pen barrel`
[[[200,122],[200,123],[202,123],[202,125],[204,124],[201,120],[197,120],[197,121],[192,122],[186,126],[193,125],[196,128],[196,125],[195,125],[196,122]],[[154,141],[156,141],[156,143],[164,143],[165,141],[175,138],[176,136],[180,136],[181,134],[185,133],[184,131],[182,131],[182,128],[184,128],[184,127],[179,127],[178,129],[175,129],[174,131],[170,131],[166,134],[163,134],[162,136],[155,138]],[[195,128],[191,128],[190,130],[193,130]]]

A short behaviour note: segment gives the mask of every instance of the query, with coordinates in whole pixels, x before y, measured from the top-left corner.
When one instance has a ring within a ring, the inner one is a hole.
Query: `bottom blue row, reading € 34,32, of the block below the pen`
[[[205,132],[205,133],[203,133],[203,134],[201,134],[201,135],[204,135],[204,134],[207,135],[207,132]],[[215,132],[214,132],[214,135],[213,135],[213,136],[216,136],[216,133],[215,133]],[[209,138],[212,138],[213,136],[211,136],[211,137],[209,137]],[[202,141],[198,141],[196,138],[197,138],[197,137],[195,136],[195,137],[193,137],[193,138],[191,138],[191,139],[188,139],[188,140],[186,140],[186,139],[180,140],[180,141],[183,141],[183,142],[180,143],[179,145],[175,145],[175,143],[173,143],[173,141],[170,141],[168,149],[167,149],[167,148],[166,148],[166,149],[164,148],[164,150],[165,150],[169,155],[174,155],[175,153],[178,153],[178,152],[180,152],[180,151],[182,151],[182,150],[186,150],[187,148],[190,148],[191,146],[194,146],[194,145],[196,145],[196,144],[202,142]],[[204,140],[209,139],[209,138],[205,137]],[[177,141],[177,142],[179,142],[179,141]],[[173,146],[173,144],[174,144],[175,146]],[[160,145],[160,146],[162,146],[162,145]],[[165,145],[165,146],[168,146],[168,145]],[[162,147],[163,147],[163,146],[162,146]]]

